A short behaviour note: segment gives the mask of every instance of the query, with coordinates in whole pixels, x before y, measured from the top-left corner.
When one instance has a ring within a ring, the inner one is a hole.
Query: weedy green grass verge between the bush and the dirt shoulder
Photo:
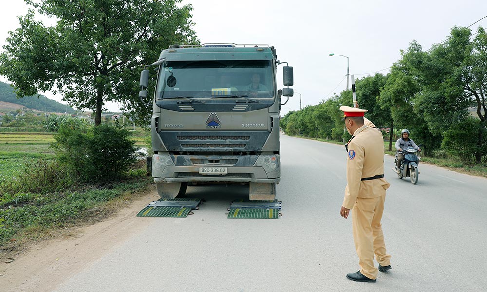
[[[0,251],[30,238],[43,238],[50,230],[74,226],[83,220],[101,219],[117,201],[128,201],[150,185],[151,178],[137,177],[104,187],[50,194],[18,193],[0,197]],[[134,215],[135,216],[135,215]]]

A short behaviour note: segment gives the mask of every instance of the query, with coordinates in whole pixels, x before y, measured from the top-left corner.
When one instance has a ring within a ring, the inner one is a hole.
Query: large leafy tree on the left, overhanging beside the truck
[[[118,101],[147,124],[150,107],[138,101],[139,72],[163,48],[197,42],[192,6],[182,0],[25,0],[40,14],[59,19],[45,27],[34,10],[19,17],[0,55],[0,74],[18,97],[53,90],[70,106],[95,112]]]

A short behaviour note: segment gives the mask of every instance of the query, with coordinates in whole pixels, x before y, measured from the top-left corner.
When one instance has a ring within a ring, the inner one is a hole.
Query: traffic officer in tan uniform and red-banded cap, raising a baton
[[[367,110],[341,106],[347,131],[352,135],[346,148],[347,186],[340,215],[347,219],[352,213],[354,243],[360,270],[347,274],[359,282],[375,282],[378,270],[391,269],[391,256],[386,252],[382,233],[382,213],[389,183],[384,179],[384,140],[379,129],[364,118]],[[364,121],[365,119],[365,121]]]

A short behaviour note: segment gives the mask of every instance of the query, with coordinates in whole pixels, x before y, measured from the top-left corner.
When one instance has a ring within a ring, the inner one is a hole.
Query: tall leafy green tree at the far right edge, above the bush
[[[482,163],[487,153],[483,143],[486,128],[487,34],[479,27],[472,40],[464,27],[451,29],[451,36],[428,52],[412,52],[411,62],[420,84],[414,108],[424,116],[431,132],[443,134],[469,116],[468,108],[476,109],[478,128],[472,133],[475,142],[475,163]],[[450,138],[461,137],[450,135]],[[473,153],[472,153],[473,154]]]

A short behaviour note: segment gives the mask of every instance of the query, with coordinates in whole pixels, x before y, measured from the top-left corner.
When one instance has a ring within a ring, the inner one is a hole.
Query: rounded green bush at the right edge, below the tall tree
[[[487,164],[487,130],[475,118],[468,117],[452,125],[445,132],[442,146],[463,162]]]

